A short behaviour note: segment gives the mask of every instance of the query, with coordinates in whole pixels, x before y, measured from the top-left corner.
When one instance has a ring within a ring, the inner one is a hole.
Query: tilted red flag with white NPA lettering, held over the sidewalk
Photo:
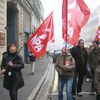
[[[41,57],[45,54],[46,46],[54,38],[53,12],[45,19],[39,28],[27,40],[30,51],[36,56]]]

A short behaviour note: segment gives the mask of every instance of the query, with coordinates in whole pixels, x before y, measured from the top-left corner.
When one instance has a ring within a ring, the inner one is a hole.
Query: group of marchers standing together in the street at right
[[[82,96],[82,85],[87,72],[91,69],[91,94],[96,92],[96,100],[100,100],[100,41],[93,41],[92,48],[87,51],[84,40],[80,39],[77,46],[68,50],[62,48],[57,58],[55,69],[58,72],[58,99],[63,100],[63,88],[66,84],[67,100],[75,100],[76,95]]]

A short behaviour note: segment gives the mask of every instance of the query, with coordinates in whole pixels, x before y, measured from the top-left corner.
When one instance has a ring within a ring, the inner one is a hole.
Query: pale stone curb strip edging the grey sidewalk
[[[36,87],[33,89],[33,91],[31,92],[31,94],[28,96],[27,100],[35,100],[36,95],[38,94],[42,84],[44,83],[44,80],[48,74],[48,70],[50,67],[50,63],[48,64],[48,67],[43,75],[43,77],[41,78],[41,80],[38,82],[38,84],[36,85]]]

